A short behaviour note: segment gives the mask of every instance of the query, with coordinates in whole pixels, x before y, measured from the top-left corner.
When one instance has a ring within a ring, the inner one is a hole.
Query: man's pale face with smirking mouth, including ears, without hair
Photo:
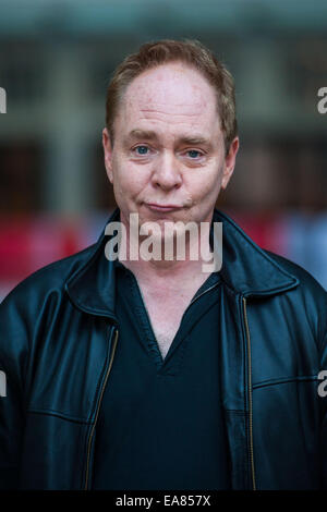
[[[105,163],[121,221],[210,221],[220,188],[232,174],[239,141],[225,156],[213,87],[192,68],[165,64],[128,87]]]

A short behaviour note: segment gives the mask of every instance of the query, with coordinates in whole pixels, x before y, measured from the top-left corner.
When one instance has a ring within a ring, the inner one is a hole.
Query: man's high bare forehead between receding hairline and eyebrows
[[[215,89],[196,70],[169,63],[148,70],[128,86],[118,117],[179,122],[211,122],[218,119]]]

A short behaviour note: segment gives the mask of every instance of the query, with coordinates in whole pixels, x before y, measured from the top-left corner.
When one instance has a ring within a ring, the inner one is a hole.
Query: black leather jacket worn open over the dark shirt
[[[327,294],[226,215],[216,210],[214,220],[223,222],[218,378],[232,486],[327,487],[327,398],[318,393]],[[119,343],[106,242],[102,233],[40,269],[0,306],[1,488],[92,486],[97,417]]]

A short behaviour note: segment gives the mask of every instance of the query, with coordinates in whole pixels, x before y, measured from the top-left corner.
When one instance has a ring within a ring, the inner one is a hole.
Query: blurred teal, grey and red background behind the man
[[[237,84],[241,149],[218,207],[327,289],[326,0],[0,0],[0,301],[97,240],[114,207],[110,74],[141,44],[184,37]]]

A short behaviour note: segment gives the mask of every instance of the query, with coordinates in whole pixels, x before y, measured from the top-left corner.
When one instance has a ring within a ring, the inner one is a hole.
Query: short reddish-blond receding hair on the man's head
[[[144,71],[170,62],[182,62],[197,70],[214,87],[225,148],[228,153],[231,142],[238,134],[233,77],[210,50],[199,41],[189,39],[146,42],[141,46],[137,53],[132,53],[119,64],[107,90],[106,124],[111,141],[113,142],[113,121],[128,86]]]

